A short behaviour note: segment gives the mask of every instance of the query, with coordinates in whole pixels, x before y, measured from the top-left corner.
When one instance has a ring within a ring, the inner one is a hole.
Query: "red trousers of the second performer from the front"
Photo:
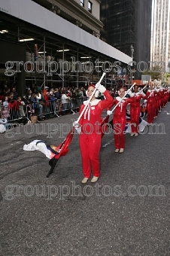
[[[114,144],[117,149],[125,148],[125,116],[114,116]]]

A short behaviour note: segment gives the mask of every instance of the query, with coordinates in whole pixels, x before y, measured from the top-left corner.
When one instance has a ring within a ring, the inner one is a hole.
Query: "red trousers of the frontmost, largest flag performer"
[[[101,148],[101,134],[97,133],[82,133],[80,134],[80,153],[83,165],[83,175],[85,178],[90,178],[91,168],[93,176],[99,177],[99,152]]]

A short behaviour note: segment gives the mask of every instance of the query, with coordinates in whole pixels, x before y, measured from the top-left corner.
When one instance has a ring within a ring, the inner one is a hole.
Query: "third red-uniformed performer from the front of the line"
[[[131,118],[131,136],[138,136],[138,125],[139,125],[139,117],[141,113],[141,99],[146,99],[146,95],[141,92],[138,93],[138,85],[136,84],[134,87],[134,93],[130,94],[130,97],[135,97],[136,102],[132,102],[130,104],[130,118]],[[135,125],[134,125],[134,124]]]

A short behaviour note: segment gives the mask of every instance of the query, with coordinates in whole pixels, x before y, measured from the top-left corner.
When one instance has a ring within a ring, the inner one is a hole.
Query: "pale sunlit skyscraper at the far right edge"
[[[165,70],[170,58],[170,1],[153,0],[150,62]]]

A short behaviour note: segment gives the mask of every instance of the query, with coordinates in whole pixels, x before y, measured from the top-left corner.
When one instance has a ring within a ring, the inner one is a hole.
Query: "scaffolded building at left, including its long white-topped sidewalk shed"
[[[8,0],[0,2],[0,14],[0,72],[2,80],[17,83],[20,95],[30,83],[41,87],[96,83],[102,72],[106,76],[111,72],[114,62],[132,61],[99,38],[103,26],[99,0]],[[14,65],[12,74],[9,61]]]

